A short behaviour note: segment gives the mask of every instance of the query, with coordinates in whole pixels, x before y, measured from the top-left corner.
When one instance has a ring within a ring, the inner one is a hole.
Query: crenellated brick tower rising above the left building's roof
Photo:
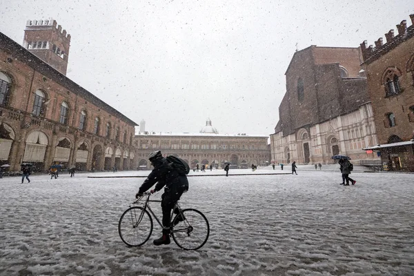
[[[66,75],[70,34],[66,34],[66,30],[62,31],[62,27],[57,26],[55,20],[28,20],[23,47]]]

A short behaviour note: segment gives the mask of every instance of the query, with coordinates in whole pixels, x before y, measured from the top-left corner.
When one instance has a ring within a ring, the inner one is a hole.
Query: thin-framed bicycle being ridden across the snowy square
[[[162,228],[161,221],[150,207],[150,202],[161,200],[150,200],[150,195],[151,193],[144,193],[132,202],[119,219],[119,237],[128,246],[141,246],[148,242],[153,229],[151,215]],[[171,219],[170,237],[177,246],[184,250],[197,250],[206,244],[210,225],[203,213],[193,208],[181,209],[178,201],[171,212],[175,217]]]

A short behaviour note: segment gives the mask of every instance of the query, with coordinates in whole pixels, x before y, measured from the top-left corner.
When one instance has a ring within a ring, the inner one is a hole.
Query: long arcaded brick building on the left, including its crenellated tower
[[[66,77],[69,43],[54,20],[28,21],[23,46],[0,33],[0,164],[136,168],[137,124]]]

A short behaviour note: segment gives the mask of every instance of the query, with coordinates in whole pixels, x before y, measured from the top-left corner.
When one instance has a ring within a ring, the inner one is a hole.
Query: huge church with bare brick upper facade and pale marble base
[[[362,164],[379,161],[361,150],[377,138],[360,63],[359,48],[310,46],[295,52],[270,135],[273,162],[332,164],[337,154]]]

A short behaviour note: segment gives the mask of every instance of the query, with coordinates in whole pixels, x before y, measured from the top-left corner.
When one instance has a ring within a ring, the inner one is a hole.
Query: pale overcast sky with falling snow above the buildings
[[[269,135],[296,48],[384,37],[413,0],[0,0],[0,31],[28,19],[71,35],[67,76],[146,130]],[[384,39],[385,41],[385,39]],[[296,46],[297,45],[297,46]]]

